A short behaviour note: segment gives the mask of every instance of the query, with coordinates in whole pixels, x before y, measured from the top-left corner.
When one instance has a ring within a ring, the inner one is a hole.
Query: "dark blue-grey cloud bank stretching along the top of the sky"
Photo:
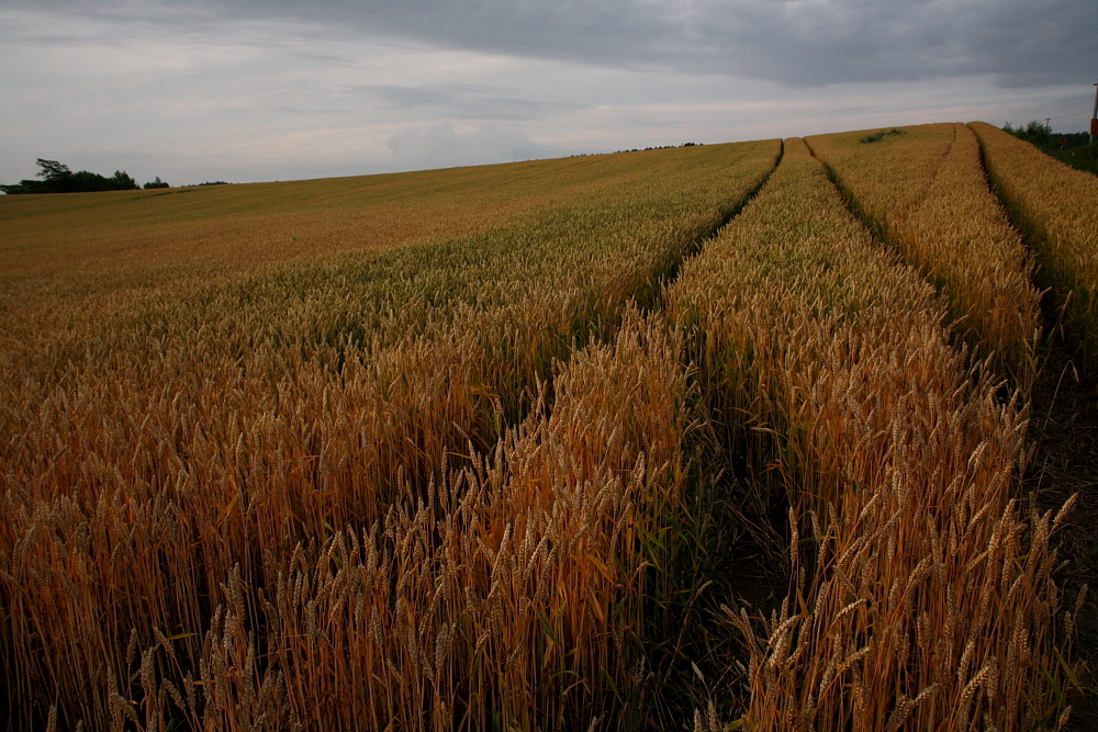
[[[1080,82],[1098,67],[1090,0],[12,0],[154,22],[289,20],[598,65],[791,86],[995,75]],[[302,32],[307,32],[303,29]]]

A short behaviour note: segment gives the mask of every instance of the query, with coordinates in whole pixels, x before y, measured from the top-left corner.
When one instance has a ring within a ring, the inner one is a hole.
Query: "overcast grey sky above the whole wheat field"
[[[0,0],[0,182],[247,182],[844,129],[1084,129],[1095,0]]]

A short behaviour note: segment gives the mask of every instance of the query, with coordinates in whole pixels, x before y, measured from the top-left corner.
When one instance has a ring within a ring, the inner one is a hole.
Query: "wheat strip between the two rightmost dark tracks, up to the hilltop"
[[[899,132],[877,144],[860,133],[807,142],[878,235],[942,291],[954,328],[1028,391],[1040,293],[1032,256],[988,189],[976,137],[963,124]]]

